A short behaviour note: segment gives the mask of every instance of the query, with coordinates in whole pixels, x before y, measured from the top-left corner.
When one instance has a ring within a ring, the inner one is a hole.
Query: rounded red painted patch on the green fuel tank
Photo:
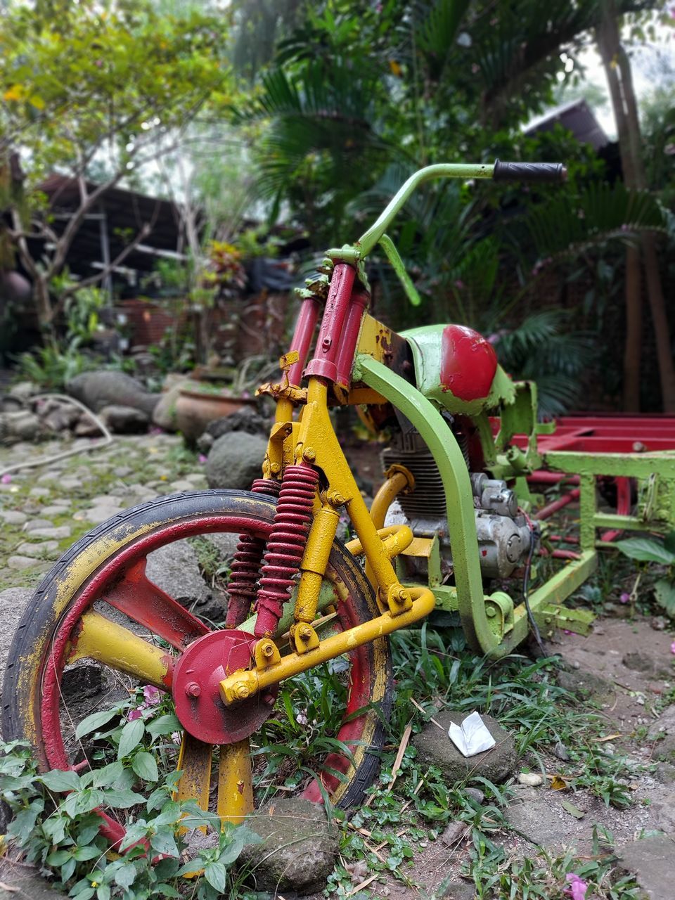
[[[441,387],[459,400],[481,400],[497,371],[494,347],[464,325],[446,325],[441,345]]]

